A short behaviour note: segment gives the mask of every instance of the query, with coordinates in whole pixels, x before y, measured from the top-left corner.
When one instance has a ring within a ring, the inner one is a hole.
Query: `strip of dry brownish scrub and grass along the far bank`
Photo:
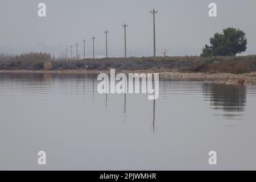
[[[65,70],[65,69],[176,69],[183,72],[248,73],[256,71],[256,55],[225,57],[129,57],[108,59],[56,59],[48,53],[25,53],[0,56],[0,69]]]

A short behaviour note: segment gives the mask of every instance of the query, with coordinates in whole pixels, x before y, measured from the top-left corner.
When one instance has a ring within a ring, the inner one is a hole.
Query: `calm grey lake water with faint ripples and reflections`
[[[0,169],[256,169],[255,86],[160,78],[152,101],[98,94],[97,84],[97,75],[0,73]]]

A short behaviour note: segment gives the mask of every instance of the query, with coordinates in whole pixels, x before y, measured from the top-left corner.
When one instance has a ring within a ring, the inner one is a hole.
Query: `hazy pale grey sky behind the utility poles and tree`
[[[47,17],[38,17],[38,4],[46,3]],[[208,16],[210,2],[217,3],[217,18]],[[108,28],[109,47],[123,47],[123,23],[128,47],[152,47],[152,14],[156,14],[156,46],[200,50],[210,36],[226,27],[241,28],[248,39],[247,53],[256,53],[255,0],[1,0],[0,45],[36,46],[39,43],[90,46],[91,36],[104,48]]]

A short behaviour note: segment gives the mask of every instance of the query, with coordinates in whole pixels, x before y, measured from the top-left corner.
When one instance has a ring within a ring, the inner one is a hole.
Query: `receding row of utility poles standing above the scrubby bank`
[[[156,56],[156,46],[155,46],[155,14],[158,13],[158,11],[155,11],[155,9],[150,10],[150,13],[153,14],[153,52],[154,52],[154,57]],[[123,24],[122,25],[123,28],[125,28],[125,59],[127,58],[127,50],[126,50],[126,28],[128,27],[128,24]],[[104,34],[106,36],[106,57],[108,57],[108,33],[109,30],[105,30]],[[94,59],[94,39],[96,39],[95,36],[92,36],[92,40],[93,40],[93,59]],[[86,40],[82,40],[82,42],[84,43],[84,59],[85,59],[85,42]],[[79,59],[79,55],[78,55],[78,43],[76,43],[76,59]],[[72,48],[73,46],[70,47],[71,48],[71,59],[72,59]],[[68,47],[65,48],[65,57],[66,59],[68,59]]]

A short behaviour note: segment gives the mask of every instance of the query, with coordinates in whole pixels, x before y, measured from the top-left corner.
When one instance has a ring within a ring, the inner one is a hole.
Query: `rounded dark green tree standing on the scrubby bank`
[[[246,51],[245,32],[237,28],[226,28],[210,38],[210,46],[205,45],[201,56],[234,56]]]

